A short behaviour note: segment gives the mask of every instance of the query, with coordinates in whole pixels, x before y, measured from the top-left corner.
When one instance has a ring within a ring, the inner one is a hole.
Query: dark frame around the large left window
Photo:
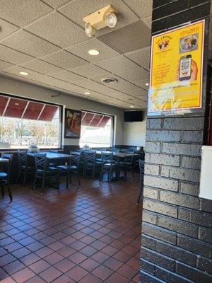
[[[45,100],[36,100],[34,98],[25,98],[23,96],[16,96],[16,95],[13,95],[13,94],[8,94],[8,93],[2,93],[0,92],[0,96],[7,96],[8,98],[17,98],[17,99],[20,99],[20,100],[28,100],[28,101],[32,101],[32,102],[35,102],[35,103],[44,103],[44,104],[48,104],[48,105],[54,105],[54,106],[58,106],[59,107],[59,147],[57,148],[54,148],[55,150],[60,150],[60,149],[63,149],[63,146],[62,146],[62,142],[63,142],[63,117],[64,117],[64,105],[61,105],[61,104],[57,104],[57,103],[50,103],[50,102],[47,102]],[[16,152],[18,151],[18,149],[20,148],[16,148],[16,149],[10,149],[10,148],[1,148],[0,147],[0,152],[1,151],[13,151],[13,152]],[[28,149],[28,147],[26,148],[21,148],[22,150],[24,149]],[[42,150],[45,150],[45,149],[49,149],[49,148],[45,148],[45,147],[42,147],[41,148]]]

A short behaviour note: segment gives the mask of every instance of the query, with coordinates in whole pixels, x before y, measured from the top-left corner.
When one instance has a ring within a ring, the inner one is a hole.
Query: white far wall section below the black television
[[[145,146],[146,112],[143,112],[142,122],[124,122],[124,145]]]

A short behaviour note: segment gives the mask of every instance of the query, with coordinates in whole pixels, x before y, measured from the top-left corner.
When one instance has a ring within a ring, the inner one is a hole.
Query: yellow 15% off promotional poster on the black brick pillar
[[[148,115],[201,108],[204,21],[152,37]]]

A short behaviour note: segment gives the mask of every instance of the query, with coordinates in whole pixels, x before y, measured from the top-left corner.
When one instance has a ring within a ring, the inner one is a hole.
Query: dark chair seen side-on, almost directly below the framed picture
[[[81,152],[70,151],[71,158],[69,158],[69,164],[57,166],[60,173],[66,174],[66,188],[68,188],[69,183],[71,183],[71,173],[78,176],[78,185],[81,185],[79,179],[79,162],[81,159],[81,154]]]

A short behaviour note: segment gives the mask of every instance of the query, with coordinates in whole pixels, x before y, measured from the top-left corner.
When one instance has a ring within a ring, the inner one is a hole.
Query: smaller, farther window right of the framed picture
[[[80,146],[110,147],[113,139],[113,117],[82,111]]]

